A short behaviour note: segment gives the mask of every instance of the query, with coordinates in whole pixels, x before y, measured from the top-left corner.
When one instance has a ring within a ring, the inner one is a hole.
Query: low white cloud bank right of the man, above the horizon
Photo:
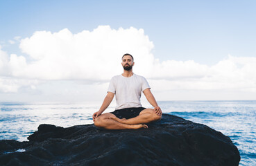
[[[162,73],[161,73],[162,70]],[[159,73],[159,75],[157,75]],[[256,57],[232,57],[214,66],[193,61],[158,64],[151,82],[162,90],[230,90],[256,92]],[[154,80],[160,78],[161,80]],[[160,84],[159,84],[160,83]]]

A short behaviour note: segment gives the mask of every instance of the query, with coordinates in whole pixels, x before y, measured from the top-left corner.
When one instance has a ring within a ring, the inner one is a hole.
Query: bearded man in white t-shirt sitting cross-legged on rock
[[[162,118],[162,110],[157,105],[146,79],[133,73],[135,64],[133,56],[123,55],[121,64],[123,74],[112,77],[108,94],[105,96],[101,108],[92,116],[94,125],[105,129],[148,128],[146,123]],[[154,109],[142,107],[140,103],[142,92]],[[112,102],[114,95],[117,100],[116,110],[111,113],[103,113]]]

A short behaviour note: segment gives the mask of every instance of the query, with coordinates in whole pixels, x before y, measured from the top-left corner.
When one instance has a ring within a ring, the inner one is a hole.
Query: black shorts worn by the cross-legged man
[[[136,116],[139,116],[139,113],[144,109],[146,108],[138,107],[138,108],[117,109],[110,113],[113,113],[119,119],[121,118],[130,119],[130,118],[135,118]]]

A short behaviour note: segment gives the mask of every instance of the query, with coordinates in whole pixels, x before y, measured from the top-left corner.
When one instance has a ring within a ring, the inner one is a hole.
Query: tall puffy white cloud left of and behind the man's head
[[[84,30],[72,34],[69,30],[58,33],[35,32],[32,37],[22,39],[20,48],[33,60],[27,62],[22,56],[11,55],[10,68],[17,77],[42,80],[109,80],[121,73],[121,55],[139,55],[151,61],[153,43],[136,28],[112,30],[110,26],[99,26],[92,32]]]

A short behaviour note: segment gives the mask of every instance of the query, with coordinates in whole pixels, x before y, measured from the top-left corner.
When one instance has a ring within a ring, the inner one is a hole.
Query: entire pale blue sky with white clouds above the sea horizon
[[[0,102],[102,101],[121,55],[157,100],[256,100],[256,1],[0,1]]]

